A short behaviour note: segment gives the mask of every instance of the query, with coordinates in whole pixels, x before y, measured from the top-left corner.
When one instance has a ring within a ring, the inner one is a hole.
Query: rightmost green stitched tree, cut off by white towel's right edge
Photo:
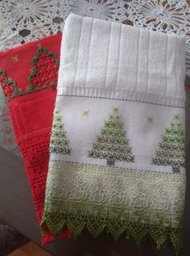
[[[175,115],[163,133],[163,141],[152,158],[152,164],[171,166],[173,172],[180,172],[185,167],[185,136],[181,128],[180,115]]]

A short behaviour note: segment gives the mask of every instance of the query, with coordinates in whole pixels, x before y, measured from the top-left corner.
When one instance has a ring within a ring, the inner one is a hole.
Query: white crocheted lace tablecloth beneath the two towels
[[[190,76],[190,6],[185,0],[2,0],[0,1],[0,51],[63,30],[69,13],[111,19],[167,33],[186,34],[187,75]],[[7,107],[0,90],[0,145],[15,149],[14,139],[6,145],[2,121]],[[9,119],[9,118],[8,118]],[[9,124],[9,125],[8,125]],[[10,127],[10,120],[6,126]]]

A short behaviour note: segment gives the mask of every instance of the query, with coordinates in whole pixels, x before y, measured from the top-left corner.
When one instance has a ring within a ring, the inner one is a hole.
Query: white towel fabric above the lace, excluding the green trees
[[[184,36],[69,15],[56,103],[72,154],[52,153],[51,160],[105,165],[88,150],[118,107],[135,161],[115,166],[171,173],[171,166],[153,166],[151,158],[173,115],[180,114],[184,128],[184,73]]]

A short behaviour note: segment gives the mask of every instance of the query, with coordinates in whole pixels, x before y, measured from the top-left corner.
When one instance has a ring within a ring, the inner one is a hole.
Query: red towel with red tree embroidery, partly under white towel
[[[23,154],[39,222],[43,216],[60,41],[61,34],[0,52],[0,69],[6,71],[0,70],[0,82],[9,100],[15,138]],[[65,229],[64,236],[71,237],[71,233]],[[43,236],[43,245],[51,241],[50,233]]]

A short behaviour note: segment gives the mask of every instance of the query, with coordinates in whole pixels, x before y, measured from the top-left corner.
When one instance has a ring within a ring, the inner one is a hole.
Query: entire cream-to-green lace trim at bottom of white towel
[[[158,248],[171,241],[179,252],[184,189],[181,174],[50,161],[41,227],[53,237],[65,227],[73,237],[85,228],[137,242],[149,235]]]

